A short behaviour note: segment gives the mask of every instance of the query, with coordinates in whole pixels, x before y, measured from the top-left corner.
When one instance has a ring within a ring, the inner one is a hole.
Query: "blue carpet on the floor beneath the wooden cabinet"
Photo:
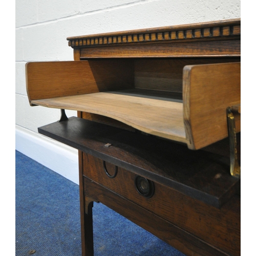
[[[79,214],[78,185],[16,151],[16,256],[81,255]],[[95,256],[184,255],[103,204],[93,224]]]

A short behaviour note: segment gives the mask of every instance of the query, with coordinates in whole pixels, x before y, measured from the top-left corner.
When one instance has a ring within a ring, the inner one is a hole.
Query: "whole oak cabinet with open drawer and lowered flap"
[[[240,19],[69,37],[29,62],[39,133],[77,148],[82,255],[101,202],[186,255],[240,255]],[[65,109],[78,111],[67,118]]]

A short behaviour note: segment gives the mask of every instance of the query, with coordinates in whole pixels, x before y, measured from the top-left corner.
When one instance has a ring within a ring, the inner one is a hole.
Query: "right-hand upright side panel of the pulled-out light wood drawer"
[[[202,148],[228,136],[226,109],[240,103],[240,67],[240,62],[184,67],[184,121],[190,148]],[[236,129],[241,131],[240,115]]]

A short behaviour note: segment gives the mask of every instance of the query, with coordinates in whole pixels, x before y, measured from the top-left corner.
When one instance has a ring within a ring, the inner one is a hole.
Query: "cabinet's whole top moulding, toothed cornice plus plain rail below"
[[[68,37],[80,58],[240,56],[241,20]]]

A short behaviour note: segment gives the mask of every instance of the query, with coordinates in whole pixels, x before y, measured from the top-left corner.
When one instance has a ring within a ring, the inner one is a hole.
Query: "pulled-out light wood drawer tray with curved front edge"
[[[240,104],[240,62],[222,58],[29,62],[26,75],[31,105],[107,116],[191,149],[227,137],[226,109]]]

